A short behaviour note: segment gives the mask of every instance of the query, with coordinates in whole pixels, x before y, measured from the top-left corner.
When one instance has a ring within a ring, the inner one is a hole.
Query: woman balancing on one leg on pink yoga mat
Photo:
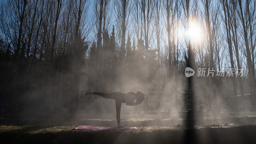
[[[116,102],[116,120],[117,120],[117,127],[123,128],[120,124],[120,111],[121,111],[121,104],[126,103],[129,106],[139,106],[142,102],[146,99],[145,94],[141,91],[138,92],[128,92],[128,93],[121,93],[121,92],[114,92],[114,93],[102,93],[102,92],[86,92],[87,94],[96,94],[100,95],[103,98],[114,99]]]

